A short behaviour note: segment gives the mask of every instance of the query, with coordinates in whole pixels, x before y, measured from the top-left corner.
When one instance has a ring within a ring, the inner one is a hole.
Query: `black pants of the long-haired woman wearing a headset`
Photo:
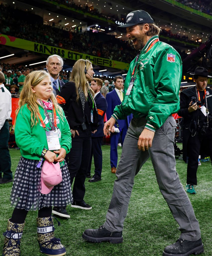
[[[91,155],[91,127],[83,131],[77,129],[79,136],[75,134],[71,141],[71,150],[66,155],[65,160],[68,166],[71,185],[73,185],[73,200],[83,201],[85,195],[85,179]]]

